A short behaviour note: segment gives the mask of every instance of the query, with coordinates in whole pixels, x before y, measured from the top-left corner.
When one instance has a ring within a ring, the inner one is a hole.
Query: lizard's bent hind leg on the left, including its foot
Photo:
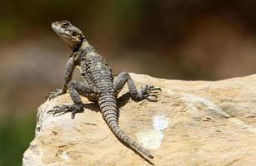
[[[53,110],[49,110],[48,113],[54,115],[63,115],[65,113],[71,112],[71,118],[75,117],[78,112],[83,112],[83,102],[80,95],[88,97],[90,100],[97,100],[98,90],[93,88],[93,86],[85,84],[82,81],[71,81],[68,84],[68,90],[70,92],[71,99],[73,100],[73,105],[62,105],[55,106]]]

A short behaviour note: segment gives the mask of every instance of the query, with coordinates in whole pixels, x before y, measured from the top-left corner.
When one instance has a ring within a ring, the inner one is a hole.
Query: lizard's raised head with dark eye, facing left
[[[68,21],[53,22],[52,28],[72,49],[75,49],[84,40],[83,32]]]

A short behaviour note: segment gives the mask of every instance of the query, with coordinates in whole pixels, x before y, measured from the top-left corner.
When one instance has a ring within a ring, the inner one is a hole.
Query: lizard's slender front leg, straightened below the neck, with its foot
[[[63,95],[67,92],[68,90],[68,83],[72,80],[72,76],[73,76],[73,71],[75,68],[76,64],[74,62],[73,56],[69,58],[68,62],[67,62],[67,66],[66,66],[66,76],[64,78],[64,82],[63,82],[63,87],[62,89],[57,89],[56,91],[50,92],[47,95],[47,98],[49,100],[52,100],[53,98],[57,97],[58,95]]]

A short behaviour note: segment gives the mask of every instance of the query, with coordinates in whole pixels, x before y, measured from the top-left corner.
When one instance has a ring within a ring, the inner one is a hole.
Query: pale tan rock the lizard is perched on
[[[158,102],[119,103],[119,125],[150,149],[143,159],[108,129],[97,105],[71,120],[53,117],[53,106],[72,104],[68,94],[38,109],[35,139],[23,166],[37,165],[256,165],[256,75],[224,81],[171,81],[132,74],[138,87],[162,88]]]

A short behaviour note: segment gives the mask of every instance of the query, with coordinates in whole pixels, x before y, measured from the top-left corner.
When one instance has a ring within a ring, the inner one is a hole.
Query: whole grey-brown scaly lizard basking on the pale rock
[[[76,113],[84,111],[80,95],[87,97],[89,101],[98,103],[103,120],[106,121],[108,127],[118,139],[123,140],[125,144],[140,154],[153,159],[153,155],[148,152],[148,149],[144,149],[143,146],[133,141],[128,134],[120,129],[118,125],[117,96],[126,83],[128,83],[129,94],[134,100],[150,100],[150,98],[152,100],[153,97],[154,101],[157,101],[156,94],[161,89],[152,85],[145,85],[137,90],[134,81],[127,72],[120,73],[114,79],[112,68],[108,65],[108,62],[89,44],[78,27],[73,26],[68,21],[59,21],[53,22],[52,28],[68,44],[73,53],[67,62],[62,88],[50,92],[47,98],[53,100],[53,98],[65,94],[68,90],[73,105],[55,106],[48,111],[48,114],[54,116],[71,112],[71,118],[74,119]],[[80,67],[83,81],[72,81],[76,66]]]

